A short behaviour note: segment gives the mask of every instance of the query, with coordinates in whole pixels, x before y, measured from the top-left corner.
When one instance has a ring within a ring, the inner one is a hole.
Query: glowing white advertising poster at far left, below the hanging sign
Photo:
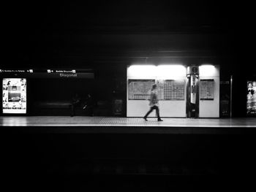
[[[4,78],[2,94],[3,113],[26,113],[26,79]]]

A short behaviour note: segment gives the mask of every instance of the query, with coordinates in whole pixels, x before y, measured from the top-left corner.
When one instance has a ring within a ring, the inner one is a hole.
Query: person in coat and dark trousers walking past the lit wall
[[[149,102],[150,110],[146,113],[146,115],[143,117],[143,119],[147,120],[148,115],[153,110],[156,110],[157,111],[157,120],[162,121],[162,119],[160,118],[160,115],[159,115],[159,107],[158,107],[159,103],[158,103],[158,99],[157,99],[157,85],[156,84],[152,85],[149,101],[150,101]]]

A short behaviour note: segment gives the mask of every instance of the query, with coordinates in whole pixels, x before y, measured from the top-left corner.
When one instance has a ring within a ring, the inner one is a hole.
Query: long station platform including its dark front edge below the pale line
[[[48,133],[246,134],[256,118],[118,118],[87,116],[1,116],[4,129]]]

